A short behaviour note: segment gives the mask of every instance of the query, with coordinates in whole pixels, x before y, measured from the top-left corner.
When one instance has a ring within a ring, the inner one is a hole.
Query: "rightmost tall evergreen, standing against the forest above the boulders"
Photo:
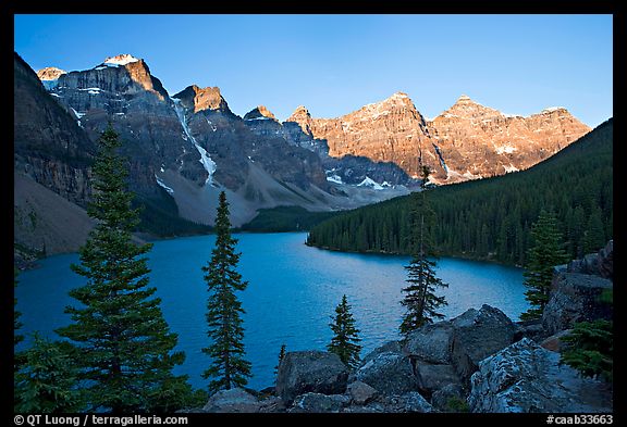
[[[525,292],[527,301],[531,307],[520,315],[522,321],[531,321],[542,316],[544,306],[549,302],[551,281],[553,280],[553,267],[564,264],[568,259],[562,249],[562,234],[560,233],[557,219],[552,212],[542,210],[538,221],[531,227],[531,239],[533,246],[527,255],[527,268]]]

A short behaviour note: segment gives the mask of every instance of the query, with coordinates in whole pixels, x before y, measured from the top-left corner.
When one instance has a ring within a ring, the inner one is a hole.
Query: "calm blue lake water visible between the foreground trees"
[[[254,375],[250,388],[273,385],[281,344],[287,351],[325,350],[332,337],[329,323],[343,294],[360,329],[361,356],[399,338],[401,290],[407,285],[404,266],[409,258],[323,251],[305,246],[306,236],[236,235],[242,252],[238,271],[249,281],[238,297],[246,311],[244,342]],[[208,384],[200,377],[210,362],[200,351],[208,344],[208,292],[200,268],[210,259],[213,242],[214,236],[163,240],[155,242],[149,253],[150,286],[162,299],[170,328],[179,334],[177,349],[186,354],[176,373],[188,374],[197,388]],[[39,268],[21,273],[15,293],[24,335],[39,330],[58,339],[53,330],[70,322],[64,307],[76,303],[67,291],[85,280],[70,269],[77,262],[77,254],[57,255],[41,260]],[[440,259],[438,268],[439,277],[448,284],[441,290],[448,302],[442,309],[447,317],[487,303],[518,321],[529,307],[520,268],[446,258]]]

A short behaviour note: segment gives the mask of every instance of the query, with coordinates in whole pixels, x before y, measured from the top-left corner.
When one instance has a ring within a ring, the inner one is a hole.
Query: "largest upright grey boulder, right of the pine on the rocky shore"
[[[454,327],[451,359],[463,382],[484,357],[514,342],[517,328],[501,310],[483,304],[451,321]]]

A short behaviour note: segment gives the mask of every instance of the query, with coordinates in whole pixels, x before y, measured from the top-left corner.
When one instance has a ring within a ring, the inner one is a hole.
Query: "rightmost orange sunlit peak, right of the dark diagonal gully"
[[[513,116],[466,96],[428,125],[447,165],[445,183],[526,169],[591,130],[562,108]]]

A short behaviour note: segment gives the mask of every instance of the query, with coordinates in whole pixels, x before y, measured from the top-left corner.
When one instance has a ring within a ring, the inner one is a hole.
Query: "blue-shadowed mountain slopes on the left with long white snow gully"
[[[337,184],[329,179],[329,171],[337,169],[336,160],[303,147],[314,138],[299,126],[283,129],[262,106],[243,120],[231,112],[216,87],[192,85],[170,97],[148,65],[127,54],[108,58],[89,70],[48,67],[38,74],[15,54],[14,86],[14,165],[23,183],[16,187],[20,205],[15,209],[21,212],[16,243],[30,252],[41,248],[47,254],[76,250],[86,236],[90,223],[81,208],[90,197],[96,141],[109,123],[123,142],[130,189],[160,224],[177,217],[212,224],[222,190],[232,205],[234,226],[250,221],[259,209],[293,205],[334,211],[409,191],[404,186],[379,189],[377,183],[357,186],[361,181],[348,179],[351,175],[365,179],[366,173],[374,179],[385,178],[377,171],[391,165],[379,167],[368,159],[348,161],[352,166],[342,169],[346,179]],[[270,121],[279,133],[265,130]],[[388,183],[408,183],[406,175],[396,172],[396,176]],[[51,197],[48,190],[61,198]],[[63,199],[71,203],[62,203]],[[50,229],[51,224],[65,224],[64,219],[46,217],[37,229],[28,225],[28,218],[40,214],[37,206],[51,203],[59,218],[81,215],[84,226],[72,235],[76,238],[71,242],[59,237],[70,235],[69,229]],[[160,213],[156,206],[167,209]]]

